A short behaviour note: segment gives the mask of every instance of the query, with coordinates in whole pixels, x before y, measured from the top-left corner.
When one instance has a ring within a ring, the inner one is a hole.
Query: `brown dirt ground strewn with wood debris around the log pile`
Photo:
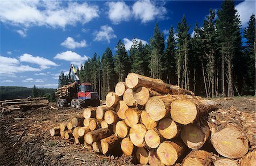
[[[255,112],[255,97],[214,99],[218,108],[236,107],[241,112]],[[137,165],[132,156],[100,155],[93,150],[51,137],[49,129],[81,116],[72,108],[35,109],[27,112],[0,113],[0,165]]]

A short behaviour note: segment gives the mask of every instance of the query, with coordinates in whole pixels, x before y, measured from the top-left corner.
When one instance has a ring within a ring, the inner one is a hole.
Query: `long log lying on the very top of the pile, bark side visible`
[[[184,90],[183,88],[180,88],[178,86],[172,86],[171,84],[164,83],[160,79],[154,79],[147,76],[135,74],[135,73],[129,73],[127,75],[127,78],[125,79],[125,83],[127,87],[129,88],[138,88],[138,87],[147,87],[152,88],[152,90],[157,91],[159,93],[164,94],[173,94],[173,95],[179,95],[179,94],[188,94],[188,95],[194,95],[193,92]]]

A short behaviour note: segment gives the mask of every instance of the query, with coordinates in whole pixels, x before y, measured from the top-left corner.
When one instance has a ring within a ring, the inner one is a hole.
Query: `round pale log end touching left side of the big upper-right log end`
[[[166,116],[166,106],[158,97],[151,97],[146,104],[146,112],[154,121],[159,121]]]

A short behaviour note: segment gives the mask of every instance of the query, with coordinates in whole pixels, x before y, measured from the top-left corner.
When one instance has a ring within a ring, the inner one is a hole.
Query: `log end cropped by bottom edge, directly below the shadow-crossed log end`
[[[183,166],[204,166],[212,165],[212,154],[204,150],[191,151],[182,161]]]

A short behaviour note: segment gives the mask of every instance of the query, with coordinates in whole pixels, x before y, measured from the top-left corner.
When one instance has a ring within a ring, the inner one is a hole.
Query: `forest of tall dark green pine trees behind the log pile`
[[[171,25],[165,44],[156,23],[149,44],[134,39],[128,52],[119,40],[116,54],[110,48],[101,58],[94,53],[77,69],[79,78],[92,83],[101,99],[114,91],[117,82],[125,81],[129,72],[159,78],[205,97],[255,95],[255,15],[242,29],[234,2],[224,1],[217,12],[209,10],[201,28],[195,24],[193,36],[191,30],[184,15],[176,32]],[[67,75],[61,73],[59,85],[66,83]]]

